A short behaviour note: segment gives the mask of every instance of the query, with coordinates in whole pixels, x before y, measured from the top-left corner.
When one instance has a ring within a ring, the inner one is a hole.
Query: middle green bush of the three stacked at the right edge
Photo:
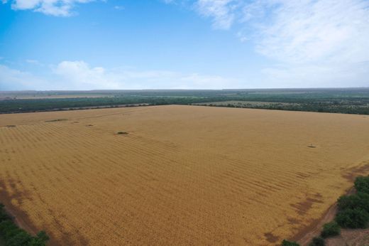
[[[369,193],[358,192],[351,196],[341,196],[337,205],[338,210],[358,208],[369,213]]]

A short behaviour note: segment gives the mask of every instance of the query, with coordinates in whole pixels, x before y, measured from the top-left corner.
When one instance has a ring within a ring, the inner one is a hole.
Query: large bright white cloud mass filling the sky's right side
[[[271,87],[369,86],[368,0],[196,0],[194,7],[276,63],[261,71]]]

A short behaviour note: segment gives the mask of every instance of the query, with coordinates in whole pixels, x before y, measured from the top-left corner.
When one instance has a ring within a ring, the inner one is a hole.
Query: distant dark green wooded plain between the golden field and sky
[[[4,92],[3,92],[4,93]],[[9,92],[10,93],[10,92]],[[16,92],[11,92],[16,93]],[[194,105],[206,104],[217,107],[248,107],[309,112],[334,112],[343,114],[369,114],[369,89],[279,89],[279,90],[153,90],[153,91],[94,91],[101,97],[91,97],[93,92],[70,92],[68,95],[86,95],[79,98],[43,98],[47,92],[27,92],[35,99],[17,99],[9,94],[0,100],[0,113],[37,112],[78,109],[81,107],[119,107],[121,105]],[[35,93],[35,94],[31,94]],[[48,92],[67,95],[66,92]],[[49,95],[48,94],[48,95]],[[12,98],[12,99],[11,99]],[[255,105],[229,104],[227,101],[270,102]],[[224,104],[214,104],[224,102]],[[280,103],[280,104],[276,104]]]

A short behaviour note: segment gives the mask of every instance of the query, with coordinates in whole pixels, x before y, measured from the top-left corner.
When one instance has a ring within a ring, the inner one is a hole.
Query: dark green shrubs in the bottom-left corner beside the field
[[[6,213],[3,204],[0,204],[0,237],[6,246],[44,246],[49,240],[44,231],[38,232],[33,237],[26,230],[18,228],[11,216]]]

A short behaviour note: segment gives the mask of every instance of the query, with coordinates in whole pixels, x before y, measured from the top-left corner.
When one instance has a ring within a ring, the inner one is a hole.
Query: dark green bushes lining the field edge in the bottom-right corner
[[[309,246],[324,246],[324,238],[340,235],[341,228],[368,228],[369,176],[356,178],[355,188],[355,194],[338,198],[338,213],[335,220],[324,224],[321,235],[314,237]],[[282,246],[299,246],[299,244],[283,240]]]

